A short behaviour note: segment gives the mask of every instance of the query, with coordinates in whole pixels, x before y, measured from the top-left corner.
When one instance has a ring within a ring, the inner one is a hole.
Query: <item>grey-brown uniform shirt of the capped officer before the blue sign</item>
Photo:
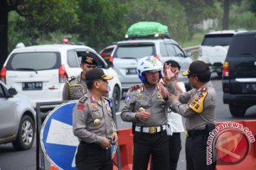
[[[107,98],[95,101],[88,91],[73,108],[73,133],[80,141],[101,145],[104,137],[112,138],[117,128]]]

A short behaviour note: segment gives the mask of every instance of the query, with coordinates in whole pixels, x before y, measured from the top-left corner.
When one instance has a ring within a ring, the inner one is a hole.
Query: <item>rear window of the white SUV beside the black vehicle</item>
[[[202,45],[214,47],[216,45],[227,46],[233,38],[233,34],[210,34],[205,35]]]

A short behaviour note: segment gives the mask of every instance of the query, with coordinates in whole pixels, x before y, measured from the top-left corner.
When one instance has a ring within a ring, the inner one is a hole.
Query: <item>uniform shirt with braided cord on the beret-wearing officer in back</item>
[[[87,93],[85,79],[81,74],[67,79],[63,88],[63,101],[78,100]]]

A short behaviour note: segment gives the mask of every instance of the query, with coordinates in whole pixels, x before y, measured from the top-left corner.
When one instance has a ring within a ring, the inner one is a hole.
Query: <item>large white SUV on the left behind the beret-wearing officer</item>
[[[85,45],[36,45],[14,49],[1,69],[1,80],[28,96],[36,108],[38,102],[62,101],[63,86],[68,77],[82,72],[81,55],[92,52],[99,59],[99,68],[107,75],[110,97],[118,109],[121,99],[121,83],[117,73],[90,47]],[[47,113],[55,106],[43,106],[41,112]]]

